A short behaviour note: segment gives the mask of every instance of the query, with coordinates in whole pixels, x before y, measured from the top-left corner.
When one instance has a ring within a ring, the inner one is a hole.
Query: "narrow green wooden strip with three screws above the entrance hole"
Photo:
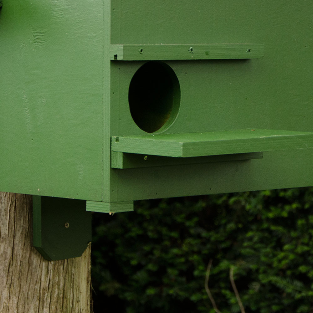
[[[259,59],[264,44],[125,44],[111,45],[111,60]]]

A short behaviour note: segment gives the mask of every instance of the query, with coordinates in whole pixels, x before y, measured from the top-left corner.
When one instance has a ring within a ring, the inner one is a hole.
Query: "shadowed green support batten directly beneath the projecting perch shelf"
[[[225,154],[218,156],[199,156],[175,158],[167,156],[154,156],[135,153],[111,152],[111,167],[113,168],[140,168],[170,165],[187,165],[210,162],[242,161],[251,159],[262,159],[263,152]]]

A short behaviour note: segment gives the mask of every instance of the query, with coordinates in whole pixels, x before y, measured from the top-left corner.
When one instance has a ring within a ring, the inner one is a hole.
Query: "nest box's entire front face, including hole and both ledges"
[[[311,4],[162,4],[111,2],[110,201],[312,185]]]

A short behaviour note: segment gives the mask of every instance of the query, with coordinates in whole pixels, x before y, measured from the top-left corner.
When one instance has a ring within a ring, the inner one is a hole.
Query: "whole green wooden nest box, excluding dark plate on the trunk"
[[[1,191],[114,213],[313,184],[310,1],[0,10]]]

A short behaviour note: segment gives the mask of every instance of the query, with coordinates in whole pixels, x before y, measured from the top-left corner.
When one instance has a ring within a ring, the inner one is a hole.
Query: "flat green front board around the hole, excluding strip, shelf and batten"
[[[179,80],[181,102],[175,122],[163,133],[238,128],[312,132],[311,9],[307,1],[201,0],[195,5],[114,0],[111,44],[262,43],[265,57],[248,62],[167,61]],[[111,62],[111,136],[146,135],[128,105],[129,83],[144,63]],[[312,186],[312,177],[312,149],[268,151],[262,159],[248,161],[113,168],[110,198]]]

